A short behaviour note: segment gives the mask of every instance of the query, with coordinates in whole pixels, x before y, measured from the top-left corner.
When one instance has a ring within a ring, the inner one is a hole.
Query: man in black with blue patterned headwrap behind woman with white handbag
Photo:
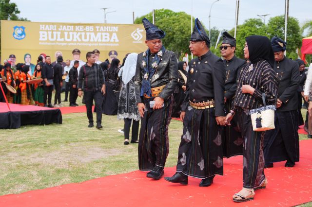
[[[273,162],[287,160],[285,167],[293,167],[299,161],[299,136],[297,125],[300,72],[296,61],[284,55],[286,42],[273,37],[274,70],[280,79],[275,112],[275,129],[264,137],[265,167],[273,167]]]

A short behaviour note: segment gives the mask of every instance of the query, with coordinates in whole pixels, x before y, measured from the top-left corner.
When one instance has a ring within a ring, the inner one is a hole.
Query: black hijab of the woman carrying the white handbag
[[[266,60],[273,68],[274,53],[271,41],[266,36],[251,35],[246,37],[249,51],[249,60],[255,64],[260,60]]]

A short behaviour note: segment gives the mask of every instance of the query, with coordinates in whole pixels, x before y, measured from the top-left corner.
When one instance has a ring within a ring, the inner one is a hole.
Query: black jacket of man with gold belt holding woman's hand
[[[182,111],[189,102],[215,101],[215,116],[224,116],[225,66],[211,51],[190,62]]]

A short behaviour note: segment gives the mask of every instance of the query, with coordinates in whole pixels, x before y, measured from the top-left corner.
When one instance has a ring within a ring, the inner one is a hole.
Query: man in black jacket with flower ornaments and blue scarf
[[[137,107],[141,117],[138,166],[151,171],[147,177],[158,180],[169,153],[168,125],[171,120],[173,91],[177,83],[176,54],[162,46],[165,33],[148,19],[142,19],[148,50],[137,56],[134,76]]]

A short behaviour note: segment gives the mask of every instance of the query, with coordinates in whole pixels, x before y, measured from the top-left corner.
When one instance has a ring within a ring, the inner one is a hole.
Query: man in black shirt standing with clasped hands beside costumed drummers
[[[44,97],[43,97],[43,103],[44,107],[52,107],[51,99],[52,99],[52,91],[53,91],[53,76],[54,76],[54,69],[51,65],[51,57],[46,56],[45,57],[45,64],[42,68],[42,78],[44,80],[43,82],[43,89],[44,89]],[[48,104],[47,104],[48,99]]]

